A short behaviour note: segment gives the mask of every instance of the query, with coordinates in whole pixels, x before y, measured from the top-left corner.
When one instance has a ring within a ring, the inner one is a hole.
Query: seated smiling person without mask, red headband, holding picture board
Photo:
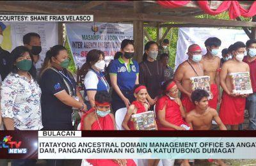
[[[127,113],[124,117],[122,126],[125,130],[134,130],[134,124],[131,121],[132,114],[140,114],[146,112],[150,107],[147,102],[147,88],[140,84],[134,87],[134,96],[136,100],[129,106]]]

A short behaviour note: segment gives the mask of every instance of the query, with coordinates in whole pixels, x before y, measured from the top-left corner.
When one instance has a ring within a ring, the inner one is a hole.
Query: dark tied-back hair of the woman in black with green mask
[[[51,68],[51,57],[56,57],[60,54],[61,50],[67,50],[63,45],[54,45],[45,54],[44,64],[40,71],[40,77],[43,75],[47,68]]]

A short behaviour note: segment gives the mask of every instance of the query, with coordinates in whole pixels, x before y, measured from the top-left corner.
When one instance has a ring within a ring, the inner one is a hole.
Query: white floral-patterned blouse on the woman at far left
[[[40,130],[42,126],[41,89],[31,78],[10,73],[1,86],[1,114],[14,120],[19,130]]]

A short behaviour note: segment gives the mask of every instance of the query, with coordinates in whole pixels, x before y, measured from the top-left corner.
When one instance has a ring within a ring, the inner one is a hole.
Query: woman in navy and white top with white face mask
[[[86,56],[86,63],[81,68],[81,70],[87,71],[84,77],[84,91],[86,92],[84,96],[88,109],[94,107],[97,91],[109,92],[109,84],[102,73],[104,68],[104,52],[90,50]]]

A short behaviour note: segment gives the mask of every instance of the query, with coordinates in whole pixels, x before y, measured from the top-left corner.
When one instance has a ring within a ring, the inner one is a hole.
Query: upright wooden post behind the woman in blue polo
[[[134,1],[134,13],[141,13],[143,11],[143,3],[141,1]],[[144,48],[144,31],[143,31],[143,20],[133,21],[133,39],[134,49],[136,56],[134,57],[138,63],[142,61],[143,48]]]

